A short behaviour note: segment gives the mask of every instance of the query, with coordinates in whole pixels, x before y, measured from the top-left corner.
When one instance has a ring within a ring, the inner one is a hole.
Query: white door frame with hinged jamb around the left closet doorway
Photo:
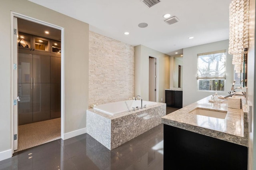
[[[18,53],[17,51],[14,51],[15,49],[18,50],[17,48],[15,48],[14,46],[16,45],[16,42],[14,42],[14,34],[13,34],[13,30],[14,30],[14,17],[16,18],[22,18],[24,20],[28,20],[30,22],[35,22],[37,24],[41,24],[44,26],[48,26],[48,27],[52,27],[55,29],[58,29],[61,31],[61,82],[60,82],[60,103],[61,103],[61,108],[60,108],[60,115],[61,115],[61,130],[60,130],[60,138],[64,139],[64,28],[60,27],[60,26],[56,26],[54,24],[50,24],[48,22],[44,22],[41,20],[37,20],[35,18],[31,18],[29,16],[25,16],[16,12],[11,11],[11,93],[10,93],[10,103],[11,103],[11,148],[12,148],[12,154],[14,153],[14,130],[18,129],[18,109],[17,106],[18,105],[13,105],[14,99],[17,99],[17,93],[14,92],[14,83],[17,83],[17,71],[18,70],[14,70],[13,69],[13,64],[18,64],[18,63],[14,63],[14,61],[17,62],[17,58],[18,58]],[[16,80],[15,80],[16,79]],[[18,89],[16,88],[16,92],[18,91]],[[16,95],[16,96],[14,96]],[[16,113],[15,113],[16,112]],[[16,116],[16,117],[15,117]],[[15,122],[14,122],[15,121]]]

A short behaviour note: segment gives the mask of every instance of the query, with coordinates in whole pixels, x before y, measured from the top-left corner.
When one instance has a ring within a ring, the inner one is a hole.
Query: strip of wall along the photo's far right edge
[[[249,169],[256,169],[256,108],[254,104],[256,102],[256,91],[255,86],[255,0],[250,0],[250,24],[249,24],[249,50],[248,50],[248,61],[247,61],[247,87],[248,87],[248,101],[252,105],[252,132],[249,133]]]

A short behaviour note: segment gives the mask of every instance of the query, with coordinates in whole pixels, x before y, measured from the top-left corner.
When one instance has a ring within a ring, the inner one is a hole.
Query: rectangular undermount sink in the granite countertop
[[[193,115],[215,117],[218,119],[225,119],[226,115],[227,115],[227,111],[212,111],[212,110],[201,109],[201,108],[196,108],[196,109],[190,111],[189,113],[193,114]]]

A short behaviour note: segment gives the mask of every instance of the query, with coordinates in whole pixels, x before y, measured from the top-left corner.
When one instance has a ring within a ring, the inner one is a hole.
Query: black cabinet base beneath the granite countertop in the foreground
[[[164,125],[164,170],[247,170],[247,161],[246,146]]]

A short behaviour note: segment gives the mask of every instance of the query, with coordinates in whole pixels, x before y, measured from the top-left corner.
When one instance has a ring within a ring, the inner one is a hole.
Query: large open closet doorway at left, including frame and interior
[[[64,56],[63,28],[12,14],[14,152],[63,138]]]

